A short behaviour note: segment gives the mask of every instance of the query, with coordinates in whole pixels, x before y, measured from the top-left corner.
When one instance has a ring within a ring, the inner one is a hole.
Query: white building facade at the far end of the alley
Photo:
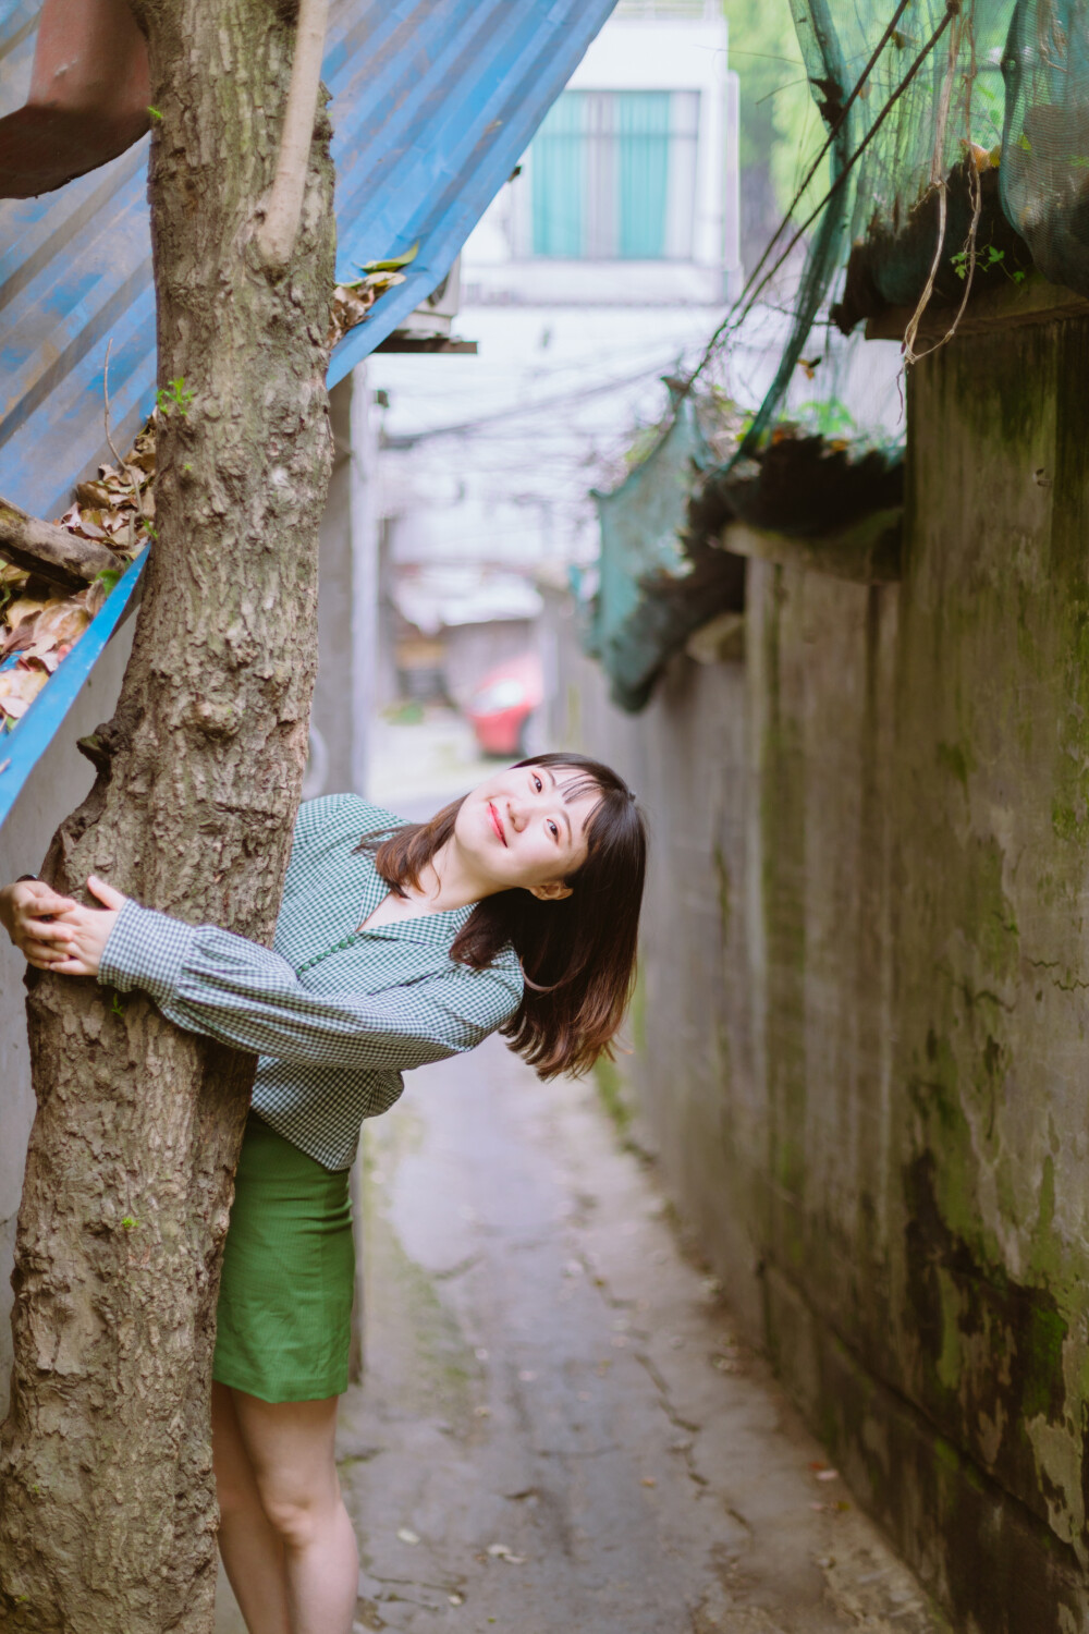
[[[589,490],[740,286],[736,105],[715,0],[620,0],[465,243],[478,355],[369,361],[387,693],[398,634],[506,655],[536,575],[594,559]]]

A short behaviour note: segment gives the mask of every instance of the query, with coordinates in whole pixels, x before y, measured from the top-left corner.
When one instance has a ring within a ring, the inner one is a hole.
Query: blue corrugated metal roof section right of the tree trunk
[[[407,283],[333,353],[330,384],[446,278],[612,5],[402,0],[330,39],[338,278],[420,242]]]

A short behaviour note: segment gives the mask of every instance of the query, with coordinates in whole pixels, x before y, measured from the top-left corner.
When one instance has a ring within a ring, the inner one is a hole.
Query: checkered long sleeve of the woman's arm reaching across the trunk
[[[449,964],[379,993],[320,993],[278,953],[214,925],[183,925],[126,902],[98,971],[140,989],[189,1033],[312,1065],[408,1070],[473,1049],[521,1002],[509,966]]]

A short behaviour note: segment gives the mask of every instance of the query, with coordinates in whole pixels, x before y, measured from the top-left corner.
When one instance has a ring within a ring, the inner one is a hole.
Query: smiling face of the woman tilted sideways
[[[467,794],[454,840],[473,873],[493,891],[570,895],[563,881],[586,861],[586,825],[601,799],[596,788],[571,792],[580,783],[573,766],[511,766]]]

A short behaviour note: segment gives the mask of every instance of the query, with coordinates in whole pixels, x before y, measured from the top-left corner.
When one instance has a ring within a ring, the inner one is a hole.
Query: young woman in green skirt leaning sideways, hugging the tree
[[[647,838],[581,755],[496,773],[428,824],[353,794],[299,812],[273,949],[139,907],[0,891],[28,961],[140,989],[260,1054],[224,1253],[212,1384],[220,1549],[251,1634],[349,1634],[358,1556],[333,1458],[354,1284],[348,1170],[402,1070],[500,1031],[585,1070],[632,987]]]

